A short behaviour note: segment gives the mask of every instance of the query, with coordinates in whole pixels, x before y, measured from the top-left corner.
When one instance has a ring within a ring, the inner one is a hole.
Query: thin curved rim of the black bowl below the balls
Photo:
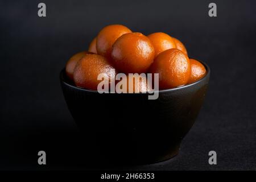
[[[194,57],[189,57],[189,59],[195,59]],[[164,93],[164,92],[171,92],[171,91],[174,91],[174,90],[179,90],[179,89],[184,89],[184,88],[188,88],[190,86],[193,86],[193,85],[196,85],[198,84],[199,82],[201,81],[204,81],[205,79],[207,79],[210,75],[210,68],[209,66],[204,63],[203,61],[199,60],[199,59],[195,59],[197,61],[199,61],[201,64],[204,65],[205,69],[207,70],[207,73],[205,74],[205,76],[203,78],[201,78],[200,80],[197,80],[196,82],[193,82],[191,84],[186,84],[186,85],[182,85],[182,86],[177,86],[175,88],[171,88],[171,89],[163,89],[163,90],[157,90],[157,91],[154,91],[154,92],[159,92],[159,93]],[[60,80],[65,84],[65,85],[68,85],[74,89],[77,89],[77,90],[81,90],[81,91],[86,91],[86,92],[91,92],[91,93],[98,93],[97,90],[89,90],[89,89],[84,89],[84,88],[80,88],[80,87],[77,87],[75,85],[72,85],[72,84],[69,84],[67,81],[65,81],[65,78],[64,78],[64,72],[65,72],[65,68],[61,69],[60,71]],[[112,94],[117,94],[117,93],[112,93]],[[129,94],[149,94],[148,92],[147,93],[129,93]]]

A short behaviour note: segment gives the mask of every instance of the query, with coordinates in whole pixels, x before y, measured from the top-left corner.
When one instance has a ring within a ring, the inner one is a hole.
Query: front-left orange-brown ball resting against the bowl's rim
[[[115,70],[109,61],[101,55],[86,55],[80,59],[75,67],[73,77],[76,86],[85,89],[97,90],[101,80],[97,80],[100,73],[104,73],[110,81],[115,81]]]

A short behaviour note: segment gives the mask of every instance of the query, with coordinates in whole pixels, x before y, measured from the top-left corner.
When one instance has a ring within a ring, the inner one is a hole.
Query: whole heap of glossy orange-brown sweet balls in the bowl
[[[189,59],[183,43],[170,35],[156,32],[145,36],[112,24],[102,28],[88,51],[76,53],[68,60],[65,72],[77,87],[90,90],[97,90],[100,73],[110,82],[117,73],[159,73],[159,90],[163,90],[200,80],[206,69],[199,61]],[[137,81],[133,85],[138,85],[138,89],[133,91],[147,92],[145,79]]]

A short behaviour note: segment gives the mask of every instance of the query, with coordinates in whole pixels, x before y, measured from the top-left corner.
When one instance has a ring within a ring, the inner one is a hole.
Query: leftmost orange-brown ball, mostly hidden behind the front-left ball
[[[74,72],[75,66],[77,64],[77,61],[79,61],[82,57],[84,57],[85,55],[90,54],[90,53],[92,53],[92,52],[82,51],[82,52],[76,53],[68,60],[66,67],[65,67],[65,71],[67,73],[67,76],[71,80],[73,80],[73,72]]]

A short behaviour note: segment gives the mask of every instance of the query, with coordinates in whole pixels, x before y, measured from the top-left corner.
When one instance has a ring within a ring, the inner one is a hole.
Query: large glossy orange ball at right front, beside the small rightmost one
[[[156,57],[150,72],[159,73],[159,89],[174,88],[188,83],[191,63],[179,49],[168,49]]]

